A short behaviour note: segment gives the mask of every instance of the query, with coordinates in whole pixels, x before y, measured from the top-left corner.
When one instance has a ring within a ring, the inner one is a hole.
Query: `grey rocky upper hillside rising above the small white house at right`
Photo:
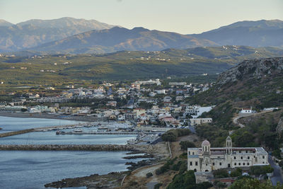
[[[283,106],[283,57],[245,60],[220,74],[213,88],[190,103],[230,102],[235,108]]]

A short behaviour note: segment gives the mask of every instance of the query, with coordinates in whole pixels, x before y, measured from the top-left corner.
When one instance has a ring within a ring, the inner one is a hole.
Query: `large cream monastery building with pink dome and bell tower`
[[[202,148],[187,149],[187,170],[210,172],[219,168],[266,166],[268,154],[262,147],[232,147],[231,137],[226,138],[226,147],[211,148],[207,140]]]

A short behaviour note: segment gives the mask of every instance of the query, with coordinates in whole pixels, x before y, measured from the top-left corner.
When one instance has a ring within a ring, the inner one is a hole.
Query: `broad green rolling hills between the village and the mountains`
[[[280,55],[283,55],[283,50],[272,47],[225,46],[157,52],[122,51],[102,55],[0,57],[0,81],[6,84],[53,84],[81,79],[144,79],[216,74],[243,59]]]

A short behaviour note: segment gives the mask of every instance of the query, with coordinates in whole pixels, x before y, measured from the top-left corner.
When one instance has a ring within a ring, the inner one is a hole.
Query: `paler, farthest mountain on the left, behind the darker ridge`
[[[103,30],[113,26],[96,20],[68,17],[54,20],[36,19],[17,24],[0,20],[0,52],[23,50],[88,30]]]

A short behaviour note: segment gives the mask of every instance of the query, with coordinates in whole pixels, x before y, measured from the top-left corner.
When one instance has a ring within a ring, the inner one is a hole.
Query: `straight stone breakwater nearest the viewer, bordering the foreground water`
[[[1,144],[0,150],[65,150],[65,151],[137,151],[132,145],[118,144]]]

